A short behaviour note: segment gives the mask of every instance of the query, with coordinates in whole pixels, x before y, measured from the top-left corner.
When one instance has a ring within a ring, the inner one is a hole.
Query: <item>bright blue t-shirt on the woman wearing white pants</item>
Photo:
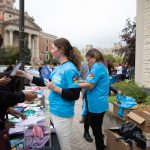
[[[50,79],[53,84],[63,89],[79,87],[79,72],[70,61],[56,67],[51,73]],[[64,118],[74,115],[74,101],[66,100],[52,90],[50,91],[49,101],[52,114]]]

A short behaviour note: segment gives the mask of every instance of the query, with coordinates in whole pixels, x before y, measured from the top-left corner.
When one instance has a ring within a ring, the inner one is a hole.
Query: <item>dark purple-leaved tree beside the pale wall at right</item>
[[[136,42],[136,23],[129,18],[126,20],[125,28],[121,31],[121,40],[125,46],[115,49],[114,52],[123,56],[123,63],[129,66],[135,66],[135,42]]]

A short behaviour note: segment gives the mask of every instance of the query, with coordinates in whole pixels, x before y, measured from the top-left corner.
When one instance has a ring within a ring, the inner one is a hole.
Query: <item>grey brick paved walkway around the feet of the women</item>
[[[73,127],[72,127],[72,139],[71,139],[71,146],[72,150],[95,150],[95,144],[94,142],[89,143],[86,142],[83,138],[83,124],[79,123],[79,120],[81,119],[81,109],[82,109],[82,100],[79,99],[76,101],[75,105],[75,117],[73,121]],[[103,133],[105,135],[105,144],[107,139],[107,129],[113,126],[117,126],[117,122],[112,116],[112,107],[110,106],[110,111],[105,114],[104,122],[103,122]],[[94,136],[92,134],[91,128],[90,128],[90,135],[94,139]]]

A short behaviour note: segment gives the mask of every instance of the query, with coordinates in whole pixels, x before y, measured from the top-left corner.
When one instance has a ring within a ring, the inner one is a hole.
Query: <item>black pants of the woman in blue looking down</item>
[[[104,135],[102,133],[104,114],[105,112],[103,113],[88,112],[86,116],[88,118],[89,124],[92,128],[95,137],[96,150],[104,150]]]

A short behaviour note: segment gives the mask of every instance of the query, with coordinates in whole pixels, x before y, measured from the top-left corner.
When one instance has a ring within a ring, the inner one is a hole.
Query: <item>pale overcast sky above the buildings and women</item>
[[[109,48],[120,41],[126,19],[136,16],[136,0],[25,0],[25,11],[44,32],[80,49],[86,44]]]

